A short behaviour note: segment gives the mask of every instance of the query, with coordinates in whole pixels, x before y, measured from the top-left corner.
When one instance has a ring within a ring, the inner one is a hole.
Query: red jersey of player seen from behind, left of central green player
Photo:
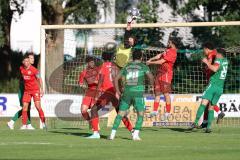
[[[106,91],[114,88],[114,77],[117,76],[118,68],[112,62],[104,62],[100,68],[100,74],[103,76],[101,89]]]

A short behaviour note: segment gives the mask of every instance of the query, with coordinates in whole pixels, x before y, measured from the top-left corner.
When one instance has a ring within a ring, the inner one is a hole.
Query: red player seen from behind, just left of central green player
[[[113,59],[113,52],[104,51],[102,53],[103,64],[100,66],[99,72],[99,88],[101,92],[98,94],[98,99],[96,105],[91,109],[91,122],[93,127],[93,135],[89,138],[100,138],[99,134],[99,117],[98,117],[98,110],[106,105],[112,105],[116,108],[118,112],[118,105],[119,105],[119,97],[116,97],[116,89],[114,86],[114,78],[117,76],[119,69],[118,67],[111,62]],[[123,123],[127,127],[127,129],[132,132],[133,127],[130,123],[127,116],[123,118]]]

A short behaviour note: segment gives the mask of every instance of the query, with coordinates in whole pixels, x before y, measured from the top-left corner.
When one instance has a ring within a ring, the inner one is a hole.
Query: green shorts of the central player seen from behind
[[[143,112],[145,110],[143,92],[125,91],[120,100],[119,110],[126,111],[130,105],[133,105],[138,112]]]

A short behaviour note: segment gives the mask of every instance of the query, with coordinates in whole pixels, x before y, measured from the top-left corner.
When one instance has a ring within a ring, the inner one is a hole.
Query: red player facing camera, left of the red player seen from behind
[[[84,83],[87,84],[87,90],[82,100],[81,113],[85,120],[90,121],[88,109],[95,104],[95,96],[98,90],[99,68],[95,66],[93,57],[87,57],[86,63],[87,68],[83,70],[79,76],[79,85],[85,88]]]

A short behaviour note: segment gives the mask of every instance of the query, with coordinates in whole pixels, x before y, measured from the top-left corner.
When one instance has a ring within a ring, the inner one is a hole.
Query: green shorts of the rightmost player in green
[[[216,105],[223,93],[223,88],[209,84],[207,89],[203,92],[202,99],[210,101],[211,105]]]

